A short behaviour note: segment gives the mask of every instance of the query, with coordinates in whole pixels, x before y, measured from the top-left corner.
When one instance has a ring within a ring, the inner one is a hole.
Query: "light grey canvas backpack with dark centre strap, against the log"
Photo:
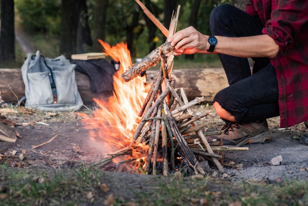
[[[39,50],[22,65],[26,108],[43,111],[78,110],[83,101],[77,90],[75,64],[66,57],[44,58]]]

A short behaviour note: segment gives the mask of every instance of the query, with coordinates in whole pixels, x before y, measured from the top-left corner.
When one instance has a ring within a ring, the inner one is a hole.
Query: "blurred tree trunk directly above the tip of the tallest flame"
[[[97,0],[94,7],[93,49],[101,51],[98,39],[105,41],[106,14],[109,0]]]

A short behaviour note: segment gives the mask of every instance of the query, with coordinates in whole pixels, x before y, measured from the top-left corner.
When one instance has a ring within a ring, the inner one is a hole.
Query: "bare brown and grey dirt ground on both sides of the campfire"
[[[205,110],[213,111],[213,108],[196,106],[194,110],[197,113]],[[16,127],[20,136],[16,143],[0,142],[0,154],[7,155],[0,160],[1,164],[6,162],[10,165],[18,162],[18,166],[26,168],[74,168],[78,165],[78,161],[92,163],[103,158],[99,152],[103,145],[93,144],[89,138],[89,130],[84,128],[84,122],[75,113],[68,113],[66,116],[45,113],[43,118],[31,112],[26,117],[8,113],[7,117],[21,124]],[[223,122],[214,112],[202,121],[209,122],[209,131],[219,130],[223,126]],[[279,119],[269,119],[268,122],[273,131],[272,141],[266,144],[247,145],[248,151],[225,152],[224,168],[228,174],[225,179],[249,182],[308,179],[308,146],[300,144],[298,139],[307,131],[304,124],[279,129],[277,128]],[[55,138],[51,142],[31,149],[34,145],[40,145],[53,137]],[[19,160],[20,153],[25,153],[26,156],[22,161]],[[270,160],[279,155],[282,156],[281,164],[271,166]],[[216,166],[211,162],[209,165],[211,171],[208,171],[208,176],[223,179],[222,174],[217,172]]]

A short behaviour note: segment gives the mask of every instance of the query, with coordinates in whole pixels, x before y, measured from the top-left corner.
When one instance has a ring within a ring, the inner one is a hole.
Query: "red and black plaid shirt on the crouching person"
[[[279,88],[280,127],[308,120],[308,3],[306,0],[249,0],[245,11],[264,24],[263,34],[280,46],[270,59]]]

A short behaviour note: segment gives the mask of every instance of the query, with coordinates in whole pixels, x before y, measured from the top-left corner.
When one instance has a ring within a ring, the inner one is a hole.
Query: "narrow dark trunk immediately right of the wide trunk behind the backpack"
[[[92,46],[91,30],[89,27],[88,19],[88,7],[87,1],[82,0],[79,4],[79,18],[77,26],[77,37],[78,37],[78,53],[84,53],[83,46],[86,44]]]

